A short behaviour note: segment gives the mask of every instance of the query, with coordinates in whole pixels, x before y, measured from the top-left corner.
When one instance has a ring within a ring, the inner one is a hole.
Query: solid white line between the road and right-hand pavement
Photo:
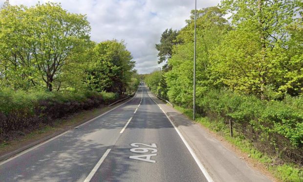
[[[149,93],[148,93],[149,94]],[[150,94],[149,94],[150,96]],[[150,96],[151,97],[151,96]],[[151,97],[151,99],[159,106],[159,104]],[[159,108],[162,110],[162,108],[159,106]],[[195,159],[195,162],[198,164],[200,170],[202,171],[202,173],[204,174],[205,178],[207,179],[208,182],[214,182],[213,179],[211,178],[211,176],[208,174],[208,172],[206,171],[206,169],[204,168],[204,166],[202,165],[202,163],[200,162],[200,160],[197,158],[197,156],[195,155],[195,152],[193,151],[193,149],[191,148],[191,146],[187,143],[187,141],[185,140],[185,138],[182,136],[182,134],[180,133],[180,131],[178,130],[178,128],[174,125],[173,121],[169,118],[169,116],[162,110],[162,112],[166,115],[166,117],[168,118],[168,120],[172,123],[173,128],[175,129],[175,131],[178,133],[179,137],[182,139],[183,143],[185,144],[186,148],[189,150],[189,152],[191,153],[191,155],[193,156],[193,158]]]

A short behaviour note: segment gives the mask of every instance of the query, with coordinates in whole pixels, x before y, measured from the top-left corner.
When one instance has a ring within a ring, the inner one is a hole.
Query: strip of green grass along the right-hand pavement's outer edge
[[[185,109],[179,106],[174,107],[176,110],[187,115],[189,118],[193,118],[193,111],[191,109]],[[196,122],[201,123],[211,131],[216,132],[220,136],[224,137],[227,141],[235,145],[242,152],[247,154],[247,157],[259,161],[266,166],[268,171],[281,182],[303,182],[303,168],[292,164],[272,165],[273,158],[268,156],[256,148],[253,143],[245,139],[243,135],[234,131],[234,136],[230,137],[229,128],[220,120],[211,120],[208,117],[202,117],[196,115]]]

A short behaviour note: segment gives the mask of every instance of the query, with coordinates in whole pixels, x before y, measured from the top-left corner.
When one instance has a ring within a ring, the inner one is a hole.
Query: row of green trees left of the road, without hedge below
[[[87,17],[58,3],[0,9],[0,88],[24,91],[129,89],[134,61],[124,42],[89,40]],[[133,87],[133,86],[132,86]],[[132,88],[133,90],[133,88]]]

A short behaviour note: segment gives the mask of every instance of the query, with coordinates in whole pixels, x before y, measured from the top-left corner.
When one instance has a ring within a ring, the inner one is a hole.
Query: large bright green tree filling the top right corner
[[[277,95],[302,93],[302,44],[297,40],[302,2],[223,0],[221,7],[232,14],[235,31],[213,52],[216,80],[261,98],[268,88]]]

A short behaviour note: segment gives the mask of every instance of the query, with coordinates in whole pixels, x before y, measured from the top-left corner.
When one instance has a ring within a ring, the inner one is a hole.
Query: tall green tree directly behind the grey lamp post
[[[175,103],[185,106],[191,105],[193,95],[193,61],[194,61],[194,22],[192,11],[191,19],[181,29],[177,39],[182,42],[173,46],[173,56],[169,59],[172,70],[167,72],[166,82],[168,96]],[[210,51],[220,43],[222,37],[230,29],[221,10],[209,7],[198,10],[197,49],[196,49],[196,81],[197,97],[202,97],[213,84],[209,80]]]

